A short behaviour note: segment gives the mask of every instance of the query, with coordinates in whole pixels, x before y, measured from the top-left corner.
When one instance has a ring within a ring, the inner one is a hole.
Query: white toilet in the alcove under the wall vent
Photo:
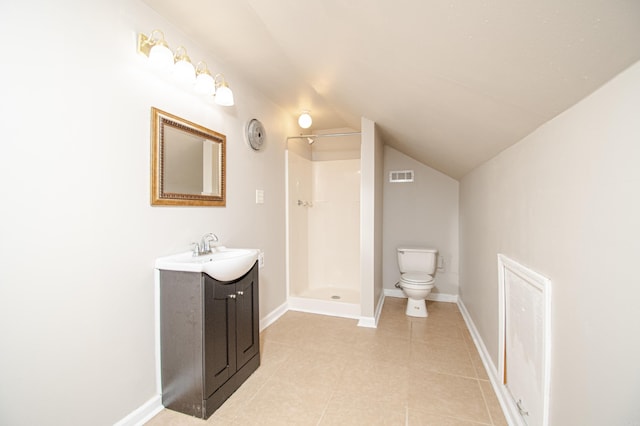
[[[398,248],[398,268],[401,288],[408,297],[407,315],[426,317],[427,303],[425,299],[431,292],[436,272],[436,256],[438,250],[428,248]]]

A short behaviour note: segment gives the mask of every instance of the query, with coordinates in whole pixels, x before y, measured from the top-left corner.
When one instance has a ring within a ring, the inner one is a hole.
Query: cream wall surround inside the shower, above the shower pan
[[[327,297],[359,303],[360,160],[311,161],[290,151],[289,191],[290,295],[324,298],[320,289],[330,289]]]

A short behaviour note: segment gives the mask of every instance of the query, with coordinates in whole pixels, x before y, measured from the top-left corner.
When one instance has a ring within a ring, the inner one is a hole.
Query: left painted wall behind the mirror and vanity
[[[261,314],[285,302],[284,141],[297,126],[138,1],[0,9],[16,40],[0,67],[0,424],[110,425],[156,394],[157,257],[215,232],[264,250]],[[149,70],[135,41],[154,28],[224,72],[236,106]],[[151,207],[151,106],[227,135],[227,207]],[[259,153],[243,138],[254,117]]]

